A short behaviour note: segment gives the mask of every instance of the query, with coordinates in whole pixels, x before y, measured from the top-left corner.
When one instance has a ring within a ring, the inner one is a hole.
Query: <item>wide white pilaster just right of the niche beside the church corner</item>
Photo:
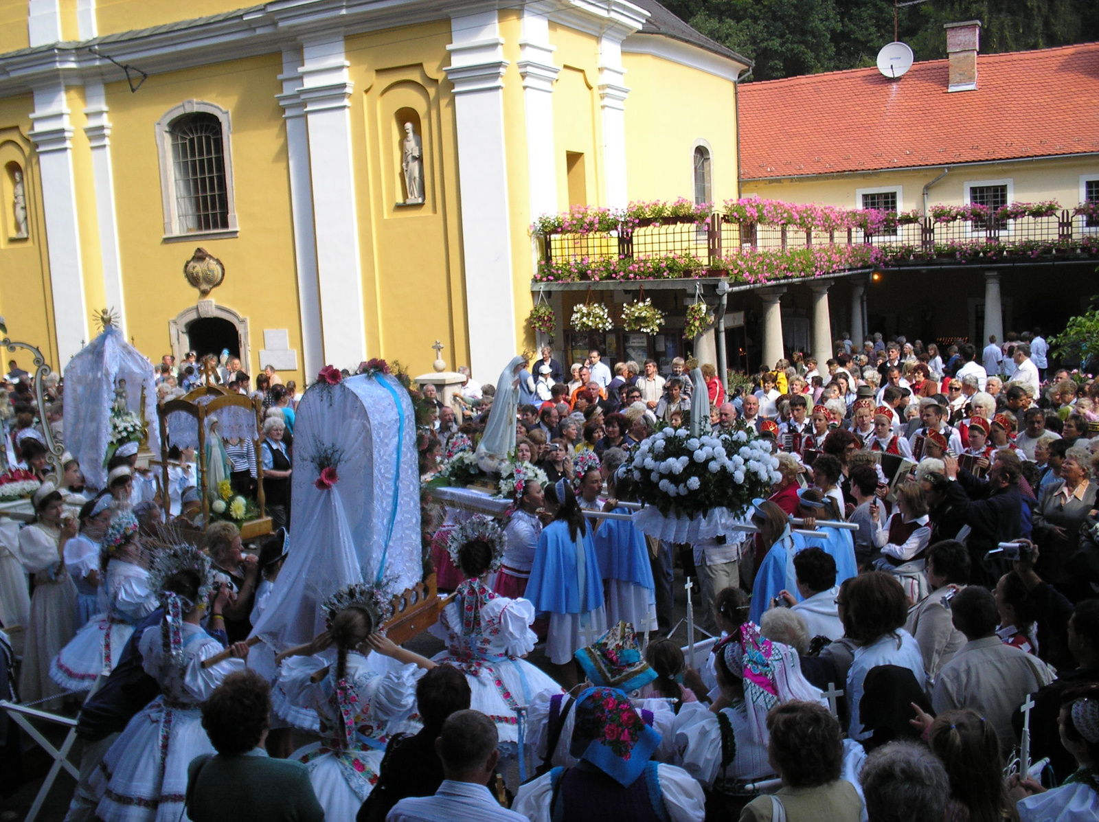
[[[503,136],[503,40],[495,9],[452,18],[446,47],[454,85],[458,196],[469,366],[492,380],[515,353],[508,167]]]

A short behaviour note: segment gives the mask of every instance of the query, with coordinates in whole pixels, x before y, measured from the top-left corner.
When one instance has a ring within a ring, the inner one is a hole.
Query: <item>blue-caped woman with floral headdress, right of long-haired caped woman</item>
[[[637,485],[632,476],[612,474],[607,479],[610,499],[603,511],[630,513],[619,500],[636,501]],[[629,520],[602,520],[595,527],[592,542],[606,584],[607,621],[629,622],[637,631],[656,630],[656,584],[648,562],[645,535]]]

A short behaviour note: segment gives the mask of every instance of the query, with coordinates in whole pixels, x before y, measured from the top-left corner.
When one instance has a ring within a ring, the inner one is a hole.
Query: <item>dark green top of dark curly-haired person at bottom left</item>
[[[187,815],[193,822],[323,822],[324,809],[304,765],[254,748],[195,757],[187,768]]]

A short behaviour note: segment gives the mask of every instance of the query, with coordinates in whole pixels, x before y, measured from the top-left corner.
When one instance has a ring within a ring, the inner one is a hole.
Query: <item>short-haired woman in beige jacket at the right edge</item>
[[[1067,565],[1079,547],[1080,525],[1096,508],[1096,490],[1091,453],[1073,446],[1065,452],[1061,479],[1045,487],[1034,509],[1033,540],[1040,548],[1036,570],[1047,582],[1073,584]]]

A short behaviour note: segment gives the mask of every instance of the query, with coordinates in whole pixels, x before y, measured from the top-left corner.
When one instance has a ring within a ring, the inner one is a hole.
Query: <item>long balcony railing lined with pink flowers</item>
[[[767,208],[764,208],[764,204]],[[931,216],[739,200],[723,212],[678,201],[543,218],[536,281],[729,277],[767,282],[867,267],[1099,256],[1099,203],[931,209]],[[675,213],[677,212],[678,213]],[[688,211],[691,213],[684,214]],[[673,213],[667,213],[673,212]]]

